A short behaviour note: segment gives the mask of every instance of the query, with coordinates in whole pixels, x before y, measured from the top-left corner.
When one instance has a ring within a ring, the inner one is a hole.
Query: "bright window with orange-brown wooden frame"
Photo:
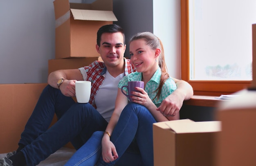
[[[181,0],[182,79],[194,94],[250,86],[255,7],[255,0]]]

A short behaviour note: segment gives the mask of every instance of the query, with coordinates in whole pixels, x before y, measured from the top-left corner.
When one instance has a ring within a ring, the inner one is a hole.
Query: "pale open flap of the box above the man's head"
[[[74,20],[117,21],[113,11],[70,9]]]

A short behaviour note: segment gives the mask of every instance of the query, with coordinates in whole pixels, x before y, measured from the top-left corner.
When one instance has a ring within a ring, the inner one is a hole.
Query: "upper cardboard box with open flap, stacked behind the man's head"
[[[97,31],[117,21],[112,0],[96,0],[91,4],[55,0],[55,58],[95,57]]]

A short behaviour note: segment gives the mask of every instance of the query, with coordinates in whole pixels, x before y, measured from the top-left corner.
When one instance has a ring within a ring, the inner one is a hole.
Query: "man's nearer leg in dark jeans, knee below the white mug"
[[[61,119],[31,144],[25,146],[21,152],[24,154],[28,166],[36,165],[77,135],[83,142],[81,147],[93,132],[105,131],[107,124],[107,121],[89,103],[75,103]]]

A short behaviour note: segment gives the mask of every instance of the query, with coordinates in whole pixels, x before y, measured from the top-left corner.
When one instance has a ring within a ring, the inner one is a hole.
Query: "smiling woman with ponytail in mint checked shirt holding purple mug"
[[[82,146],[66,165],[93,166],[97,162],[97,166],[113,166],[119,163],[119,158],[124,161],[129,159],[129,157],[125,158],[123,154],[126,153],[131,144],[136,144],[142,164],[139,161],[140,158],[130,159],[138,160],[138,165],[153,166],[152,124],[179,119],[179,114],[174,117],[164,117],[156,109],[177,87],[167,73],[162,43],[154,34],[143,32],[132,36],[130,56],[137,72],[125,76],[119,82],[115,110],[106,132],[104,134],[103,132],[94,133],[95,135],[92,136],[94,140],[91,139]],[[130,103],[120,89],[123,85],[127,85],[128,81],[144,81],[144,89],[136,87],[135,90],[139,92],[132,93],[135,96],[131,97],[132,102]],[[100,141],[97,137],[102,137],[101,156]],[[95,146],[92,149],[98,149],[97,152],[94,150],[93,153],[89,153],[83,150],[83,148],[88,149],[88,146],[92,145]]]

